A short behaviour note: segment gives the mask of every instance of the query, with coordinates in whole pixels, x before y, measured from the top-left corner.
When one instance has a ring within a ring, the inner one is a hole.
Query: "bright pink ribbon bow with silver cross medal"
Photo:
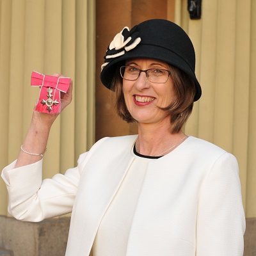
[[[47,76],[33,71],[31,86],[41,87],[35,110],[41,113],[60,113],[60,92],[67,93],[69,85],[69,77]]]

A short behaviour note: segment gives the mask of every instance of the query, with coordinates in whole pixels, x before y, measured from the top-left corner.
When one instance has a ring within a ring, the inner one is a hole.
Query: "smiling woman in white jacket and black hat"
[[[56,116],[33,113],[17,161],[2,177],[9,211],[41,221],[72,211],[66,255],[243,255],[244,211],[234,156],[187,136],[201,96],[195,51],[168,20],[124,28],[108,47],[101,81],[138,136],[103,138],[76,168],[42,182]],[[60,76],[57,75],[56,76]],[[61,99],[64,109],[72,87]]]

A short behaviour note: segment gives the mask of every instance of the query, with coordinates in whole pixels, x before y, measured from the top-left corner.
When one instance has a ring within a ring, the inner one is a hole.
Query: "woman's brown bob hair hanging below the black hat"
[[[191,79],[185,72],[179,68],[170,66],[170,77],[173,79],[174,90],[176,97],[170,102],[170,105],[163,109],[170,116],[171,133],[175,134],[180,132],[183,125],[191,115],[195,94],[196,86],[193,79]],[[136,120],[129,113],[123,92],[123,79],[120,76],[120,67],[116,68],[115,76],[113,77],[111,90],[115,92],[115,109],[117,115],[127,123],[136,122]]]

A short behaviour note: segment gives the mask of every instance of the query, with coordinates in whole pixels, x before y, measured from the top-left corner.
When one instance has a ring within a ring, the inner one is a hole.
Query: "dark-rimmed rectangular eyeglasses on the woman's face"
[[[132,66],[120,67],[120,74],[122,78],[129,81],[134,81],[138,79],[141,72],[146,73],[148,81],[156,84],[166,83],[171,74],[170,70],[165,70],[161,68],[150,68],[147,70],[141,70],[139,68],[132,67]]]

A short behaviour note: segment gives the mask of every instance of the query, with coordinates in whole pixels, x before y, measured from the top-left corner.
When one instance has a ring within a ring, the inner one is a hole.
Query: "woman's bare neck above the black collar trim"
[[[138,124],[137,152],[145,156],[157,156],[165,150],[164,154],[171,152],[186,138],[182,131],[172,134],[170,128],[170,124]]]

